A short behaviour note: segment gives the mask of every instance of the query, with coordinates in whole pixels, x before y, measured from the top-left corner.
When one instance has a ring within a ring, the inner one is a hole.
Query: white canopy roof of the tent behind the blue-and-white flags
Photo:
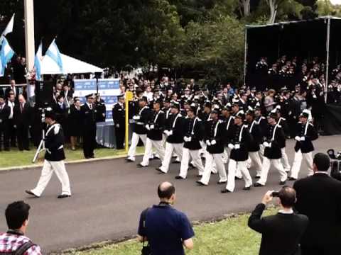
[[[102,68],[96,67],[92,64],[76,60],[65,54],[60,54],[63,62],[63,72],[58,67],[58,64],[48,55],[43,57],[41,62],[41,74],[87,74],[95,72],[103,72]]]

